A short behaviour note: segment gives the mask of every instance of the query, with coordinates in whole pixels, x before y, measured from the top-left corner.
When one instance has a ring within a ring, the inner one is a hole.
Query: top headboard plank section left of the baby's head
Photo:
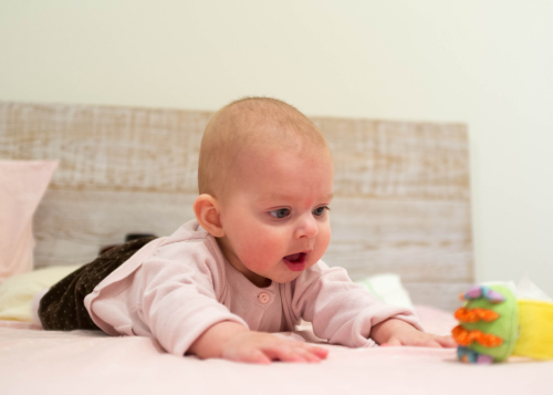
[[[52,189],[196,193],[206,112],[0,105],[0,157],[59,159]]]

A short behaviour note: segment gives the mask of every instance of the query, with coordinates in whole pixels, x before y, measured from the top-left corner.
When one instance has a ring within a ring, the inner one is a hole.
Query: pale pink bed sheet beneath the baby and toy
[[[428,332],[451,314],[418,306]],[[281,334],[296,336],[296,334]],[[0,394],[552,394],[553,362],[457,362],[453,349],[324,345],[320,364],[248,365],[165,353],[146,337],[0,321]]]

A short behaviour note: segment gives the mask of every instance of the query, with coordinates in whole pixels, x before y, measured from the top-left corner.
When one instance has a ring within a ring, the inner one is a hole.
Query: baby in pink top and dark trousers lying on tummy
[[[44,329],[153,336],[175,355],[261,364],[326,357],[270,334],[302,319],[331,344],[455,346],[321,261],[333,171],[325,138],[294,107],[265,97],[227,105],[201,142],[196,220],[60,281],[40,302]]]

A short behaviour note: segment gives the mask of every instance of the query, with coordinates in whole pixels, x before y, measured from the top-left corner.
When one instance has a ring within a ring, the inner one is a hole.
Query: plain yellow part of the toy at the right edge
[[[553,360],[553,303],[519,300],[519,325],[513,355]]]

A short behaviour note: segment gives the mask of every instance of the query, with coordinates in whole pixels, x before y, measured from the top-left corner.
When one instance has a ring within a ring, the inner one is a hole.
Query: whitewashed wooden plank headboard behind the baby
[[[194,218],[212,113],[0,102],[0,158],[55,159],[34,218],[35,266],[86,263],[129,232]],[[418,304],[453,310],[473,281],[462,124],[312,117],[334,156],[330,266],[401,276]]]

